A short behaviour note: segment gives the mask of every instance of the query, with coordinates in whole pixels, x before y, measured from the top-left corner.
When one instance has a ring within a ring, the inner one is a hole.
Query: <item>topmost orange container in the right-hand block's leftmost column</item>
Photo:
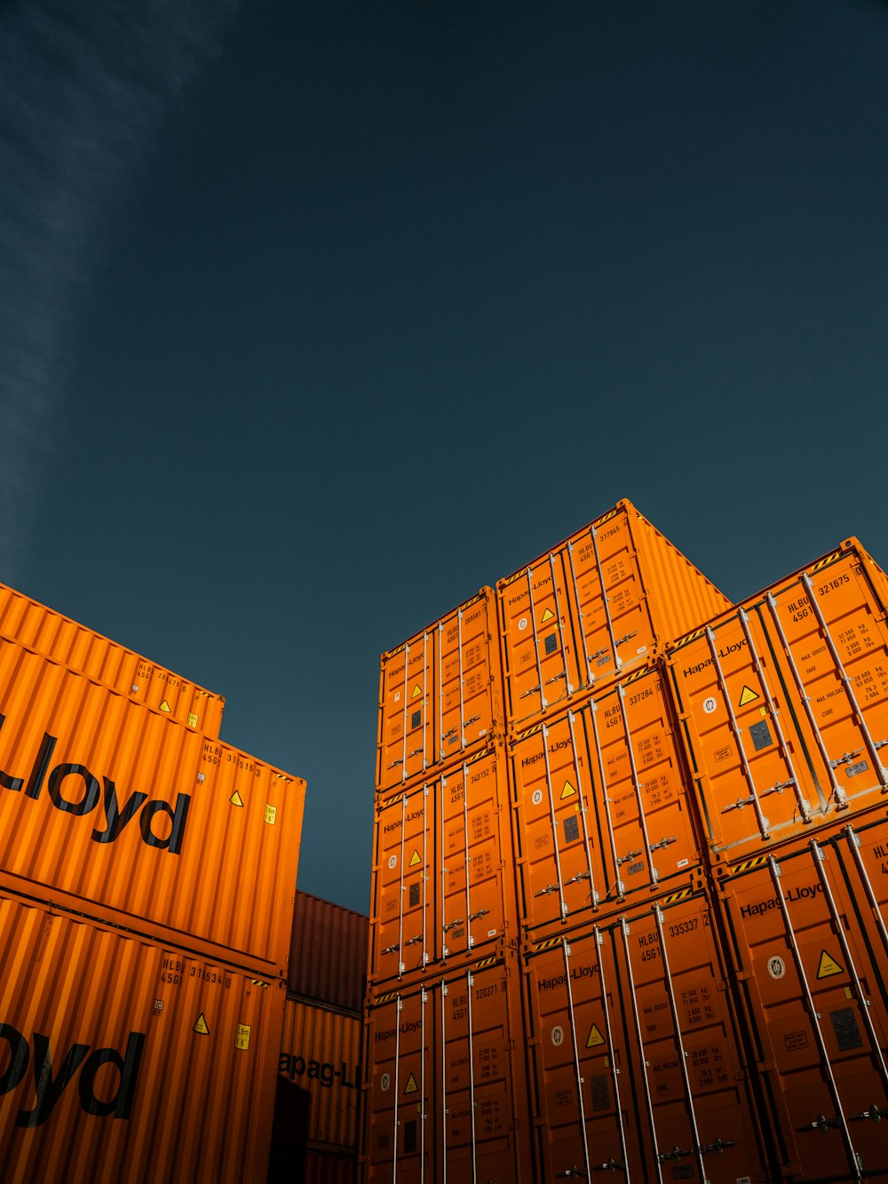
[[[502,733],[491,588],[384,654],[380,667],[379,792],[463,759]]]

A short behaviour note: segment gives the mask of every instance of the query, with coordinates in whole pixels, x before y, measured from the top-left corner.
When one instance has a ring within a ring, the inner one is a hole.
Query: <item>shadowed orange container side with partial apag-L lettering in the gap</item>
[[[308,1094],[304,1138],[358,1153],[361,1018],[288,999],[278,1075]]]

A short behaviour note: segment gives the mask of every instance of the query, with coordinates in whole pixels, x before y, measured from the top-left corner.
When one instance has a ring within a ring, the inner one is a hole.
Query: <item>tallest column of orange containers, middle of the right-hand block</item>
[[[728,601],[625,502],[497,592],[533,1179],[755,1178],[663,665]]]

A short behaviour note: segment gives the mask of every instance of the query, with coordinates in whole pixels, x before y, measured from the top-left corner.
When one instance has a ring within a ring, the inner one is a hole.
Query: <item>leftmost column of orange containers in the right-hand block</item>
[[[517,1179],[529,1153],[496,597],[382,655],[365,1179]]]

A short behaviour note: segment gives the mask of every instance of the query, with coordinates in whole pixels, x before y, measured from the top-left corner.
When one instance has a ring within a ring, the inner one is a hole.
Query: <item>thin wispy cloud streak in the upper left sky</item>
[[[0,580],[21,577],[102,231],[236,0],[0,7]]]

